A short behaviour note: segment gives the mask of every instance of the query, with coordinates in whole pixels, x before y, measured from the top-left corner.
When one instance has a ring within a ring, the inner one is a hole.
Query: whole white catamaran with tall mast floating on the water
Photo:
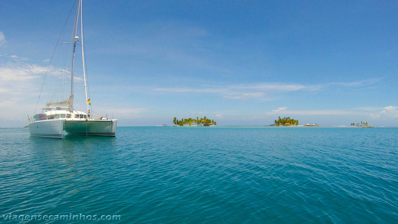
[[[78,20],[80,16],[81,24],[81,40],[76,36],[78,29]],[[84,67],[84,44],[83,44],[83,15],[82,15],[82,0],[78,1],[76,18],[74,22],[72,41],[63,42],[70,43],[72,49],[72,61],[70,69],[70,95],[66,100],[59,102],[47,102],[46,106],[42,108],[42,113],[35,114],[29,118],[29,133],[31,136],[44,138],[59,138],[64,137],[64,131],[68,134],[84,135],[84,136],[115,136],[116,134],[116,119],[109,119],[106,116],[92,116],[90,98],[87,98],[86,73]],[[84,77],[84,91],[86,92],[87,113],[74,110],[73,108],[73,83],[74,83],[74,62],[76,45],[82,47],[82,66]],[[51,62],[50,62],[51,63]],[[44,82],[43,82],[44,84]],[[65,97],[66,98],[66,97]],[[40,99],[40,94],[39,94]],[[37,100],[39,102],[39,100]],[[37,106],[36,106],[37,108]],[[36,113],[36,112],[35,112]]]

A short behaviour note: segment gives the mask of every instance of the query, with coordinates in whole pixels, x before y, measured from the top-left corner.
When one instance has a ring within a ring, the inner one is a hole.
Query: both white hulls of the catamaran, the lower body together
[[[41,120],[29,124],[31,136],[62,139],[62,132],[82,136],[116,136],[116,119],[107,120]]]

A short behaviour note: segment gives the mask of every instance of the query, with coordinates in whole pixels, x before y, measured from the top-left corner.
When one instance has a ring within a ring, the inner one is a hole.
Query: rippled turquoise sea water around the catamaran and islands
[[[398,128],[118,127],[116,136],[0,129],[0,224],[18,223],[10,214],[398,223]]]

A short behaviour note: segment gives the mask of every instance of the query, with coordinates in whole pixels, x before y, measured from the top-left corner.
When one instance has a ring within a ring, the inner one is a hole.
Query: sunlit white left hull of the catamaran
[[[29,124],[31,136],[44,138],[62,138],[64,120],[40,120]]]

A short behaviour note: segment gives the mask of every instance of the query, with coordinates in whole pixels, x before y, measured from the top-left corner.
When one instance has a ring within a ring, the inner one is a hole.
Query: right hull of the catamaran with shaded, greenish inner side
[[[116,135],[116,119],[109,120],[64,120],[64,130],[68,134],[82,136],[111,136]]]

